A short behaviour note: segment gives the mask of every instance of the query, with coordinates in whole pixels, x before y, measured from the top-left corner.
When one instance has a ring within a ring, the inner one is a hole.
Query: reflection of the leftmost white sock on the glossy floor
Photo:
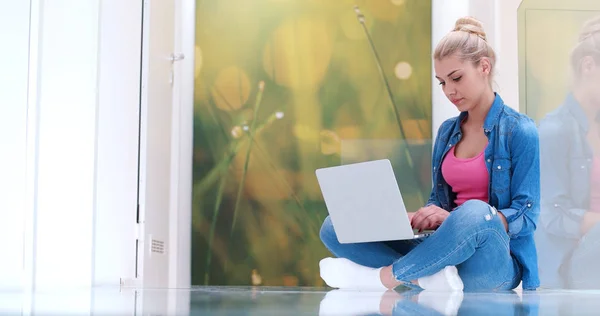
[[[379,304],[385,293],[384,291],[329,291],[321,301],[319,316],[379,314]]]

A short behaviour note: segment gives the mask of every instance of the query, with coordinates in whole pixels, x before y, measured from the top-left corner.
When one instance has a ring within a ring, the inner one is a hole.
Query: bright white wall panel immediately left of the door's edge
[[[114,285],[135,277],[142,2],[100,3],[93,270]]]

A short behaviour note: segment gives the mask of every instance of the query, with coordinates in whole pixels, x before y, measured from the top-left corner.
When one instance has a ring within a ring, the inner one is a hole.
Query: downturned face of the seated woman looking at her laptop
[[[481,103],[484,94],[491,89],[491,63],[487,58],[474,65],[452,55],[434,60],[434,68],[435,77],[439,80],[444,94],[460,112],[475,108]]]

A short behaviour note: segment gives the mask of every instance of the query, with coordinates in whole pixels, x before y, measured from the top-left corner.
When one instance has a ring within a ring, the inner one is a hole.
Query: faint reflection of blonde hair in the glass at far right
[[[579,41],[571,51],[571,66],[575,77],[581,74],[581,62],[591,56],[600,63],[600,16],[587,21],[579,33]]]

